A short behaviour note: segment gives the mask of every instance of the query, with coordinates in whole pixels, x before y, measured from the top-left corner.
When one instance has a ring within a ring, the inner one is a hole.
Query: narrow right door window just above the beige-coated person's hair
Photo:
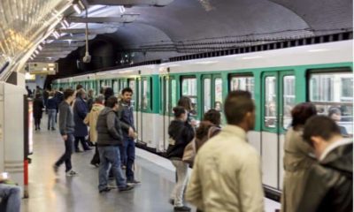
[[[291,123],[291,110],[295,106],[295,76],[283,77],[283,115],[282,125],[284,129],[287,129]]]

